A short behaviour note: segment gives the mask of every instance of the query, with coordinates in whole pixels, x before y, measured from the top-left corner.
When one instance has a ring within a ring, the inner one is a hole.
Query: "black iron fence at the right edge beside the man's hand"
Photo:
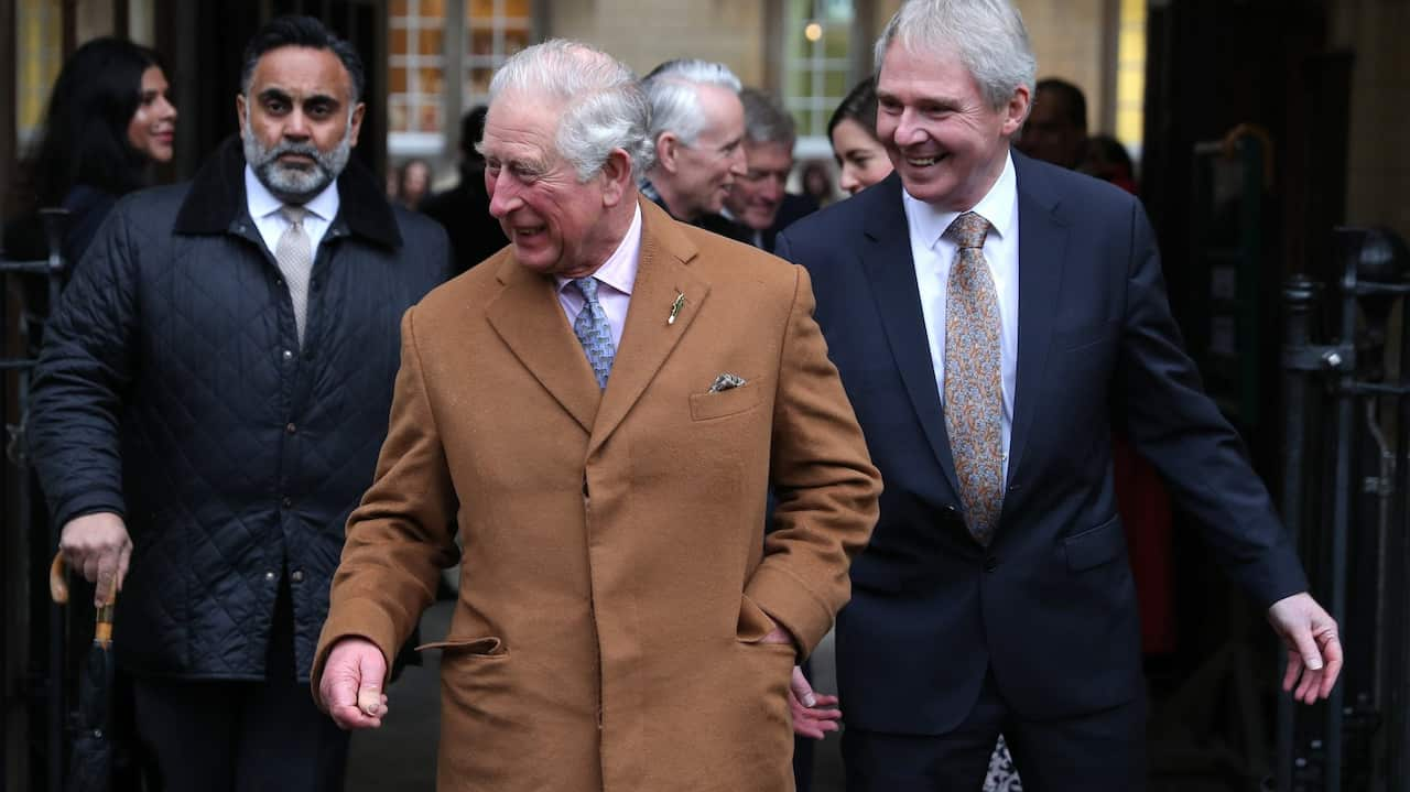
[[[1340,280],[1283,290],[1283,517],[1347,665],[1316,707],[1279,698],[1279,792],[1410,792],[1410,254],[1335,233]]]

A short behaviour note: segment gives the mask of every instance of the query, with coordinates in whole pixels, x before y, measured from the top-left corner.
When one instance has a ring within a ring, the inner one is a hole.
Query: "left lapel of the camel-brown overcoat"
[[[554,280],[526,269],[513,255],[499,265],[498,275],[505,290],[489,306],[489,324],[544,389],[592,431],[602,393],[567,324]]]

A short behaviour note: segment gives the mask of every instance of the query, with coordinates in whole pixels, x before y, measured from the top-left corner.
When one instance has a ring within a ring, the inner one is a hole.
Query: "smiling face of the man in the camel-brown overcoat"
[[[557,149],[561,114],[561,104],[543,97],[502,94],[485,117],[479,151],[489,214],[499,220],[519,264],[582,278],[602,266],[626,233],[620,210],[630,162],[615,149],[602,171],[578,182]]]

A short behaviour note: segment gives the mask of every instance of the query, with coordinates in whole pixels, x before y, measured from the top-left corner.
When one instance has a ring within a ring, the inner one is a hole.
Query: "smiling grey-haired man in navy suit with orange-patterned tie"
[[[1122,428],[1325,698],[1337,624],[1180,347],[1141,204],[1010,152],[1034,56],[1008,0],[912,0],[877,42],[895,173],[785,230],[885,481],[838,620],[847,785],[1145,788]]]

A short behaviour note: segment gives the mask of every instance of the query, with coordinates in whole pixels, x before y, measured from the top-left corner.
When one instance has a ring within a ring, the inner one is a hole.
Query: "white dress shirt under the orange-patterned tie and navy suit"
[[[945,238],[962,213],[943,211],[901,190],[907,227],[911,230],[911,258],[915,261],[915,285],[921,289],[921,311],[925,314],[925,334],[931,342],[931,364],[940,402],[945,400],[945,296],[949,289],[950,266],[959,245]],[[1004,172],[988,193],[970,210],[988,220],[991,228],[984,238],[984,261],[994,278],[998,293],[1000,371],[1004,388],[1004,476],[1008,476],[1008,445],[1014,431],[1014,382],[1018,368],[1018,180],[1014,158],[1004,158]]]

